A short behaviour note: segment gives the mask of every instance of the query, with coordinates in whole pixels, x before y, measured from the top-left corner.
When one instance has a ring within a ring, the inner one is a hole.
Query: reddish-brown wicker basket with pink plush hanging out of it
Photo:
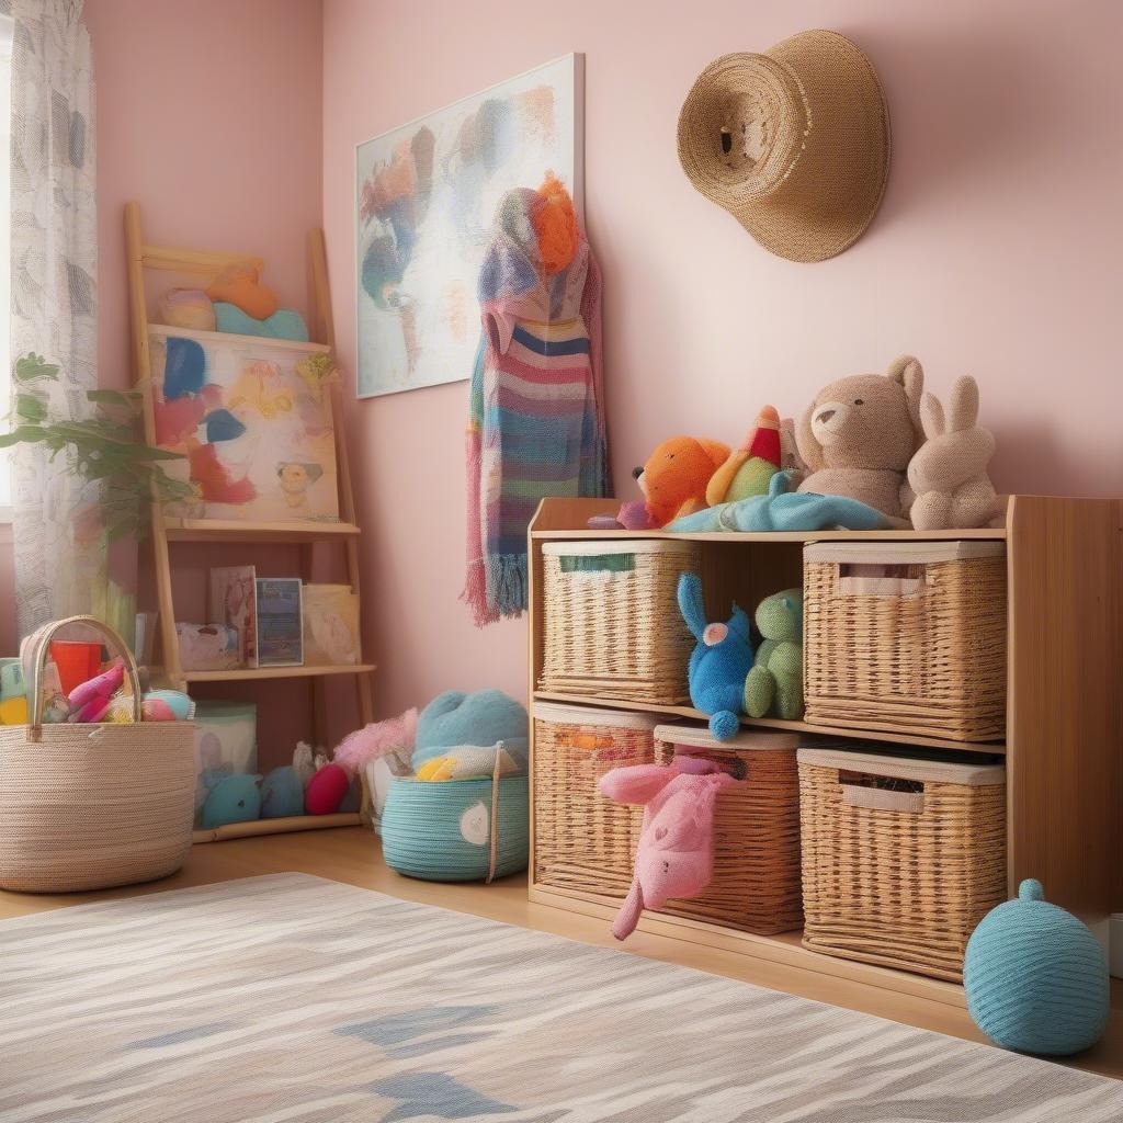
[[[800,896],[800,788],[792,733],[743,732],[718,741],[707,729],[659,725],[656,755],[709,757],[740,783],[718,798],[713,880],[690,901],[660,911],[770,935],[803,920]]]

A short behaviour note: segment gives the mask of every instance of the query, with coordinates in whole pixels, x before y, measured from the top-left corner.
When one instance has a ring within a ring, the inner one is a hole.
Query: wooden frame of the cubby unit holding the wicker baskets
[[[614,500],[548,499],[529,531],[531,702],[634,710],[665,720],[705,715],[690,705],[629,703],[590,694],[539,690],[544,660],[542,547],[551,541],[619,542],[691,539],[701,550],[701,577],[710,619],[724,620],[730,601],[750,614],[778,590],[803,584],[807,542],[984,541],[1005,548],[1006,660],[1005,737],[969,742],[904,729],[856,729],[780,719],[742,719],[747,727],[783,729],[815,747],[841,738],[860,751],[941,750],[949,759],[1006,768],[1005,873],[1007,894],[1026,877],[1041,880],[1051,900],[1094,930],[1123,907],[1123,873],[1116,860],[1123,794],[1123,666],[1121,562],[1123,502],[1015,495],[1004,522],[977,530],[917,532],[793,531],[777,533],[667,535],[592,530],[592,515],[614,514]],[[820,719],[822,716],[820,715]],[[531,729],[531,901],[611,921],[620,897],[550,884],[536,861],[535,809],[539,774]],[[556,824],[555,824],[556,828]],[[643,913],[639,929],[755,957],[773,965],[819,973],[849,984],[888,988],[952,1006],[964,1005],[962,986],[939,978],[836,958],[802,944],[801,931],[757,935],[734,928],[666,913]]]

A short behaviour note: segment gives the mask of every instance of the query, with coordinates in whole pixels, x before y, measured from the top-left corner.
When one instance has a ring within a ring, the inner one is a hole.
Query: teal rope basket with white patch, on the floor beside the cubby
[[[382,853],[391,869],[427,882],[484,882],[527,868],[526,776],[499,782],[491,869],[492,780],[394,780],[382,816]]]

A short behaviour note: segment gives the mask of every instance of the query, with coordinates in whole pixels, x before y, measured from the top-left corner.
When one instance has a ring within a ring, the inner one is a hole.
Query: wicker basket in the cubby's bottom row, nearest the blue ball
[[[1006,896],[1001,766],[800,749],[806,948],[960,982]]]

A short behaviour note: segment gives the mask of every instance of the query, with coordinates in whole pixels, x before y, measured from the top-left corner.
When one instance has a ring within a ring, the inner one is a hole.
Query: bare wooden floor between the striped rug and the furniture
[[[584,943],[620,947],[612,939],[608,925],[600,920],[531,904],[527,900],[526,878],[522,876],[510,877],[490,886],[438,885],[400,877],[383,862],[375,836],[362,828],[274,834],[197,846],[181,873],[149,885],[61,896],[0,892],[0,919],[22,916],[88,901],[159,893],[189,885],[206,885],[287,870],[316,874],[337,882],[377,889],[405,901],[420,901],[457,912],[475,913],[508,924],[553,932]],[[728,978],[743,979],[759,986],[786,990],[836,1006],[860,1010],[970,1041],[985,1040],[965,1010],[957,1010],[944,1003],[909,997],[814,971],[750,959],[685,940],[642,932],[630,937],[626,947],[629,951],[649,959],[696,967]],[[1095,1049],[1070,1063],[1089,1071],[1123,1078],[1123,987],[1114,982],[1112,1006],[1112,1022],[1104,1040]]]

